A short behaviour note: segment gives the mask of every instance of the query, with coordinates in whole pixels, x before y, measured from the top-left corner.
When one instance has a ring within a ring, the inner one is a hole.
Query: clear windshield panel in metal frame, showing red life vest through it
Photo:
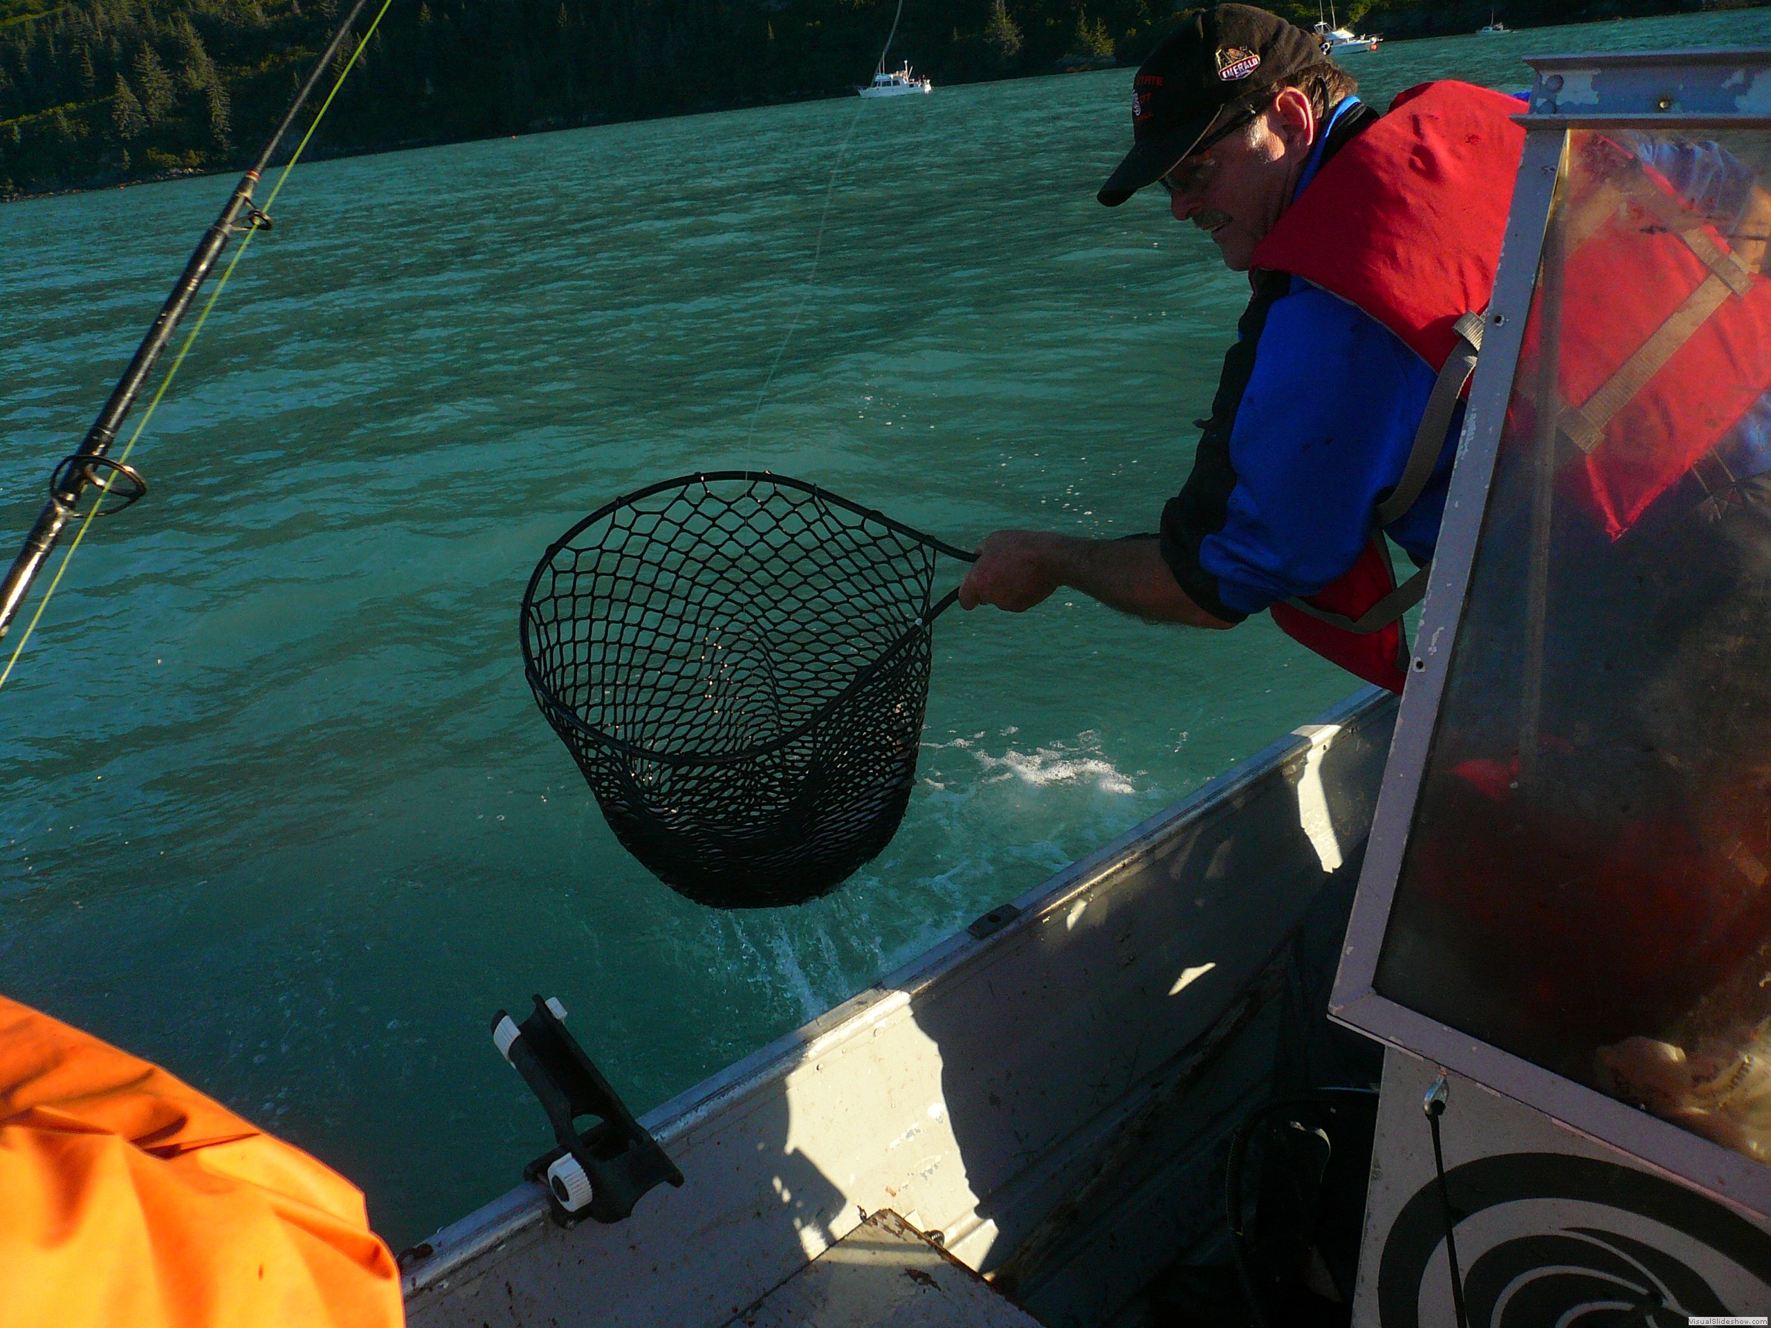
[[[1767,168],[1569,135],[1376,979],[1762,1162]]]

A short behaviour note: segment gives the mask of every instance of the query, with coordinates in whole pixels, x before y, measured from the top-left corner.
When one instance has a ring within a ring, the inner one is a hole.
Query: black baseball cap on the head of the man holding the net
[[[1132,151],[1094,197],[1118,207],[1199,145],[1227,106],[1254,106],[1323,58],[1319,39],[1252,5],[1190,14],[1132,80]]]

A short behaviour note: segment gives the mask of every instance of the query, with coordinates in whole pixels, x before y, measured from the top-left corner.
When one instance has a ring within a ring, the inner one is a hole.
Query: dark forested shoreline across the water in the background
[[[1390,39],[1766,0],[1350,0]],[[1172,0],[909,0],[893,62],[937,85],[1137,64]],[[1305,27],[1316,0],[1273,0]],[[310,154],[850,92],[896,0],[393,0]],[[0,198],[241,168],[338,0],[0,0]],[[340,55],[340,60],[344,57]]]

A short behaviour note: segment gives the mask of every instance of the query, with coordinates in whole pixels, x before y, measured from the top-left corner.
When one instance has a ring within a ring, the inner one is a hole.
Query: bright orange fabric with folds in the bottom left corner
[[[0,997],[0,1328],[397,1328],[361,1192]]]

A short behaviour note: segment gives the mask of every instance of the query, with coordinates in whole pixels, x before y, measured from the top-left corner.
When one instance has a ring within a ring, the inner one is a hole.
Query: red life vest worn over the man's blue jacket
[[[1346,299],[1435,372],[1445,370],[1463,344],[1459,319],[1486,310],[1495,289],[1525,151],[1525,129],[1512,122],[1518,112],[1512,97],[1470,83],[1422,83],[1404,92],[1388,115],[1323,165],[1261,241],[1254,266],[1293,273]],[[1463,388],[1459,381],[1452,391]],[[1438,459],[1443,432],[1436,443],[1429,462]],[[1419,483],[1427,475],[1431,464]],[[1273,622],[1318,655],[1399,692],[1406,646],[1397,618],[1408,604],[1378,630],[1346,625],[1396,590],[1388,552],[1374,537],[1344,575],[1302,606],[1275,604]],[[1312,616],[1312,609],[1335,622]]]

